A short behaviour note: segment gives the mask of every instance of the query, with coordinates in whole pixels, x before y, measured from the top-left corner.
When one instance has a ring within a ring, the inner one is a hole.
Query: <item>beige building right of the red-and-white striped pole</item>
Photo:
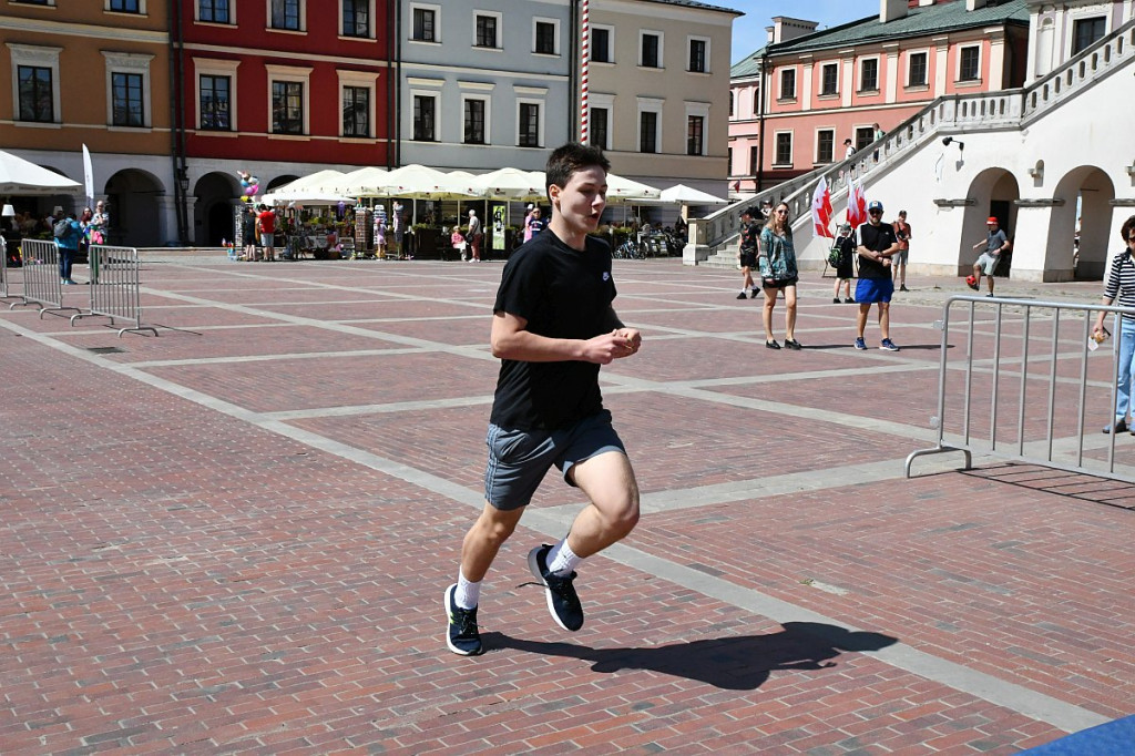
[[[726,194],[735,10],[683,0],[591,0],[588,138],[612,170]]]

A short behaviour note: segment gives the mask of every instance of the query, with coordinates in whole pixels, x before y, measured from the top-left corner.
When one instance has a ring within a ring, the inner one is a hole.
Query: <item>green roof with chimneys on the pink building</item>
[[[796,52],[812,52],[831,48],[861,47],[889,40],[944,34],[990,24],[1028,25],[1026,0],[1008,0],[1000,5],[986,6],[977,10],[966,10],[961,0],[936,2],[933,6],[910,8],[902,18],[878,23],[878,16],[867,16],[859,20],[806,34],[777,44],[768,44],[733,65],[731,76],[755,76],[760,69],[760,58]]]

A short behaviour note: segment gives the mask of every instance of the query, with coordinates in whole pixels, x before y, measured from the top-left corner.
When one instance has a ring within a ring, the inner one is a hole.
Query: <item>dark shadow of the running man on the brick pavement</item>
[[[878,632],[851,631],[819,622],[785,622],[783,630],[760,636],[711,638],[641,648],[589,648],[568,642],[512,638],[503,632],[481,636],[488,648],[591,662],[604,674],[647,670],[697,680],[725,690],[755,690],[776,670],[825,670],[843,652],[871,652],[898,639]]]

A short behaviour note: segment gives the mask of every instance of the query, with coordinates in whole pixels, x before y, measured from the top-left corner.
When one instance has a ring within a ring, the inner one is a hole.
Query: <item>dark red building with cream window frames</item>
[[[177,0],[174,153],[194,244],[233,236],[233,208],[323,168],[394,156],[394,0]],[[180,225],[180,224],[179,224]]]

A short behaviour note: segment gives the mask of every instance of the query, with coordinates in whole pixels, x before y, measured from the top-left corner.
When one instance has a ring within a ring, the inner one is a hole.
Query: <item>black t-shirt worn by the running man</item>
[[[524,318],[539,336],[588,339],[607,333],[614,299],[607,243],[589,236],[580,252],[545,229],[508,258],[493,310]],[[550,430],[602,409],[598,364],[503,360],[489,419],[502,428]]]

